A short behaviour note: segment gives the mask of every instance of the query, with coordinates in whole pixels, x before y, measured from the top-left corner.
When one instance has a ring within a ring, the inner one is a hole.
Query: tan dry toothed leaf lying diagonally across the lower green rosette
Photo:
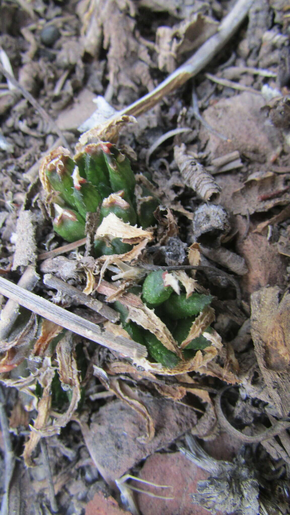
[[[120,299],[119,299],[120,300]],[[172,334],[167,329],[166,325],[155,315],[153,310],[143,305],[141,308],[127,306],[128,319],[141,325],[143,329],[147,329],[150,333],[154,334],[156,338],[166,347],[166,349],[175,352],[181,359],[182,354],[178,348],[178,343],[174,340]]]

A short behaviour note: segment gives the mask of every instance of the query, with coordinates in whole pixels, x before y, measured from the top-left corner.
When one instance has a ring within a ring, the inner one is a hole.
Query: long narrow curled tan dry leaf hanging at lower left
[[[31,454],[42,436],[40,430],[46,426],[49,420],[51,408],[51,385],[54,375],[55,368],[51,365],[51,359],[49,357],[45,357],[38,376],[38,381],[43,388],[41,399],[37,405],[38,414],[34,421],[34,425],[30,426],[31,432],[29,433],[29,438],[24,445],[23,458],[26,467],[34,466]]]

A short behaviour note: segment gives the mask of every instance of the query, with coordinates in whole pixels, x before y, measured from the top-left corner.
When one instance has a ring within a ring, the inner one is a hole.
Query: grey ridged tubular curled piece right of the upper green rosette
[[[211,174],[186,152],[185,144],[174,147],[174,159],[187,186],[203,200],[216,200],[219,197],[220,187]]]

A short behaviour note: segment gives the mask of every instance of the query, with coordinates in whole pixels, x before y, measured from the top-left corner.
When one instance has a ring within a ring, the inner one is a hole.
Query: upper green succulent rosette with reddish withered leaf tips
[[[45,158],[40,178],[54,204],[54,230],[68,242],[85,237],[89,212],[99,213],[99,224],[109,213],[143,228],[155,222],[153,212],[158,199],[153,198],[152,204],[151,197],[150,209],[136,214],[135,176],[130,161],[111,143],[88,144],[74,159],[58,147]],[[120,238],[99,238],[95,255],[123,253],[131,248]]]

